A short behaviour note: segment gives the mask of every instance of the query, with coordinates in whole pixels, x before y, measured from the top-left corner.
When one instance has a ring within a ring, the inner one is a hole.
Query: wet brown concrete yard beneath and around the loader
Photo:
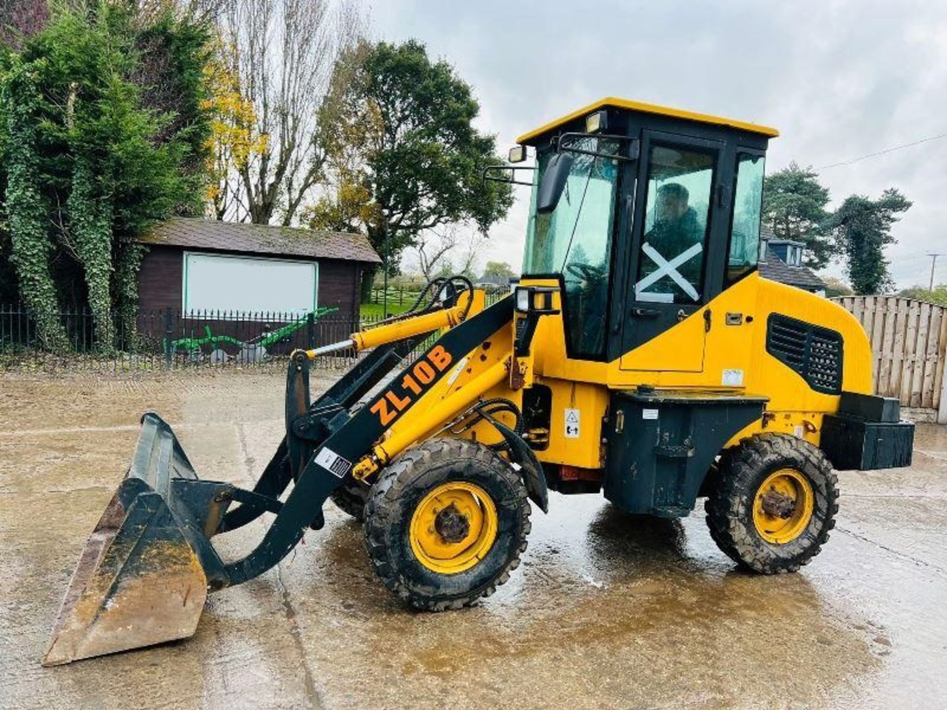
[[[141,412],[171,422],[202,477],[249,486],[281,436],[282,386],[0,379],[0,707],[947,705],[947,427],[931,425],[911,469],[840,474],[836,530],[796,575],[735,571],[698,513],[553,494],[496,595],[410,612],[329,505],[278,569],[211,595],[187,641],[41,667]]]

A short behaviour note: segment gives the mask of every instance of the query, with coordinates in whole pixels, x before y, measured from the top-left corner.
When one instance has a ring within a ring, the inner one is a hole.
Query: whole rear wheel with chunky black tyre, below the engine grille
[[[724,452],[708,494],[710,537],[764,575],[795,572],[818,555],[838,512],[829,459],[788,435],[755,435]]]

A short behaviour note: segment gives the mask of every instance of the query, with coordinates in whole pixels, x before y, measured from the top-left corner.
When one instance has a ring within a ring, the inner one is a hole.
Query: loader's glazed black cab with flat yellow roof
[[[756,270],[774,129],[606,98],[518,139],[535,150],[523,279],[554,276],[569,358],[618,360]],[[700,322],[690,317],[701,311]],[[689,319],[689,321],[688,321]],[[692,341],[695,342],[695,341]],[[648,364],[700,371],[703,346]]]

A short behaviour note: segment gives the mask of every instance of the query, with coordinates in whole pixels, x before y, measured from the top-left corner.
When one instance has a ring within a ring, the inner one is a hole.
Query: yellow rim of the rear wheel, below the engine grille
[[[777,545],[794,541],[813,519],[813,502],[813,485],[801,471],[771,473],[753,501],[753,524],[759,537]]]

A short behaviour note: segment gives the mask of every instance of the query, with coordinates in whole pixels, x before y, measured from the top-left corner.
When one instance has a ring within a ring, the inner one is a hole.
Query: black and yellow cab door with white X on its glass
[[[640,155],[619,366],[700,372],[713,314],[698,311],[720,292],[729,227],[724,143],[644,131]]]

